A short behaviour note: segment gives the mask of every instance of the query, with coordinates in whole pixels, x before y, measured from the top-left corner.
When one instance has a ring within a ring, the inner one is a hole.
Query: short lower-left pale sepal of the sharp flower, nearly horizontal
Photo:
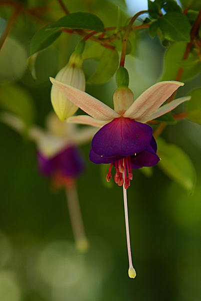
[[[70,123],[87,124],[96,127],[101,127],[111,120],[112,119],[108,121],[98,120],[88,115],[70,116],[69,118],[66,119],[66,121]]]

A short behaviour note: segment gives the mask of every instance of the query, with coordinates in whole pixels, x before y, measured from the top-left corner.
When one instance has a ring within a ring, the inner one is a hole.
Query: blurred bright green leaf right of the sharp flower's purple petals
[[[161,161],[158,167],[173,181],[192,193],[195,184],[195,170],[189,157],[178,146],[157,138],[157,154]]]

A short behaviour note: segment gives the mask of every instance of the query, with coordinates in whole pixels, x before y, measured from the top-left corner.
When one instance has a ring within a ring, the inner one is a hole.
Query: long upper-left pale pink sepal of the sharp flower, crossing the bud
[[[119,117],[119,114],[91,95],[66,85],[54,78],[49,78],[53,85],[71,102],[84,112],[99,120],[110,120]]]

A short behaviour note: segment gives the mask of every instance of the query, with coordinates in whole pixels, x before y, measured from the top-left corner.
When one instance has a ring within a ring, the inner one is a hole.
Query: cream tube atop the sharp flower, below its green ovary
[[[132,91],[127,87],[119,87],[113,94],[114,111],[123,114],[134,101]]]

